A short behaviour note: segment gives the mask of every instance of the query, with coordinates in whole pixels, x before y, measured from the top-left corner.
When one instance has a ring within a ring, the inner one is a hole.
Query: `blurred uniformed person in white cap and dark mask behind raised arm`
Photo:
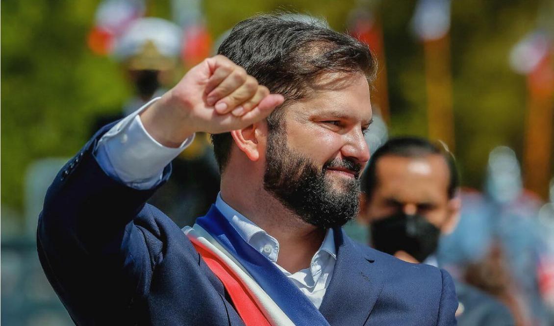
[[[91,133],[165,93],[179,78],[176,73],[182,40],[181,27],[162,18],[136,18],[127,24],[115,38],[111,56],[120,63],[134,93],[115,114],[99,116]],[[172,161],[172,168],[171,179],[148,202],[177,225],[192,225],[196,217],[208,211],[219,191],[219,171],[208,136],[198,133],[187,150]]]

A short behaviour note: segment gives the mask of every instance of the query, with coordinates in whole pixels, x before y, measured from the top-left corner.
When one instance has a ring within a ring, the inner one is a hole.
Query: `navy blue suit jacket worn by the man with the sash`
[[[244,325],[181,229],[145,203],[155,189],[131,189],[102,171],[93,150],[109,128],[59,172],[39,218],[40,262],[71,318],[79,325]],[[456,324],[447,272],[402,262],[342,230],[335,235],[337,262],[320,307],[331,325]]]

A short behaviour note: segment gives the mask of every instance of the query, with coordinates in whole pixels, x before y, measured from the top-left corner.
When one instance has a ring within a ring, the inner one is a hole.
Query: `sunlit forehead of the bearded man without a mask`
[[[288,107],[290,118],[330,115],[360,121],[371,120],[370,87],[359,74],[325,74],[311,85],[304,99]]]

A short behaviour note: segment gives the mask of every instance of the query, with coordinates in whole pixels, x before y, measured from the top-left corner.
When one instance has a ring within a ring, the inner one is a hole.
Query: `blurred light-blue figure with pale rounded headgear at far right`
[[[542,202],[524,188],[514,150],[507,146],[491,150],[484,193],[490,207],[491,237],[504,253],[500,259],[504,259],[502,264],[507,267],[525,315],[533,325],[552,324],[538,279],[541,258],[548,254],[537,218]]]

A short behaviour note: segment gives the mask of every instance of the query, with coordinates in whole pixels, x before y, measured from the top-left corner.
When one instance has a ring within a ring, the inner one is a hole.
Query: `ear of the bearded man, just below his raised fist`
[[[258,161],[265,149],[265,121],[260,121],[240,130],[231,131],[237,147],[246,154],[250,161]]]

